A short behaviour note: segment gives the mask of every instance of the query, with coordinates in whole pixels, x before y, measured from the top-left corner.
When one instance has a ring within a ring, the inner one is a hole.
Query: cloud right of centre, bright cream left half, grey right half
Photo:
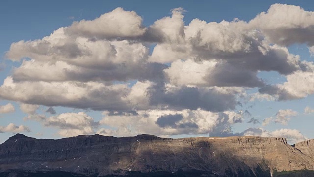
[[[257,71],[234,66],[226,61],[176,60],[164,70],[171,84],[184,86],[261,87]]]

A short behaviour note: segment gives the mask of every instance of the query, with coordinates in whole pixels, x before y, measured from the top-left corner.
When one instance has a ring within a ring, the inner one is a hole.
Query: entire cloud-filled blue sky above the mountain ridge
[[[314,2],[0,2],[15,133],[314,138]]]

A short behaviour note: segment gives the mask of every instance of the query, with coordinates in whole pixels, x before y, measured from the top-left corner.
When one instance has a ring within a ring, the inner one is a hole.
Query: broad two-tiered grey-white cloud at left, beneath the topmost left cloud
[[[58,30],[42,40],[20,41],[11,45],[8,58],[31,58],[23,60],[21,66],[13,70],[15,81],[154,80],[162,77],[161,71],[166,67],[147,63],[148,48],[141,43],[89,41],[69,36],[60,39],[58,33],[65,34],[63,30]],[[70,44],[63,40],[74,43],[71,45],[76,46],[75,51],[67,47]]]

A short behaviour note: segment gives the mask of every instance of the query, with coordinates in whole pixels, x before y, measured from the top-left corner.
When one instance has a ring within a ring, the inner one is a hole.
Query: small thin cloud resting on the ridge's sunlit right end
[[[287,138],[288,143],[295,144],[300,141],[306,140],[306,137],[295,129],[279,129],[275,131],[267,131],[262,128],[249,128],[243,133],[245,136],[262,136],[262,137],[284,137]]]

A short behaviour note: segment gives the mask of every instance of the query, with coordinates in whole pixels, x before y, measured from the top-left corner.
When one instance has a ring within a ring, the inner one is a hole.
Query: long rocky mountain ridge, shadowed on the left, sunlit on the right
[[[61,171],[85,176],[131,172],[268,177],[272,170],[313,170],[314,140],[290,146],[285,138],[101,135],[36,139],[16,134],[0,145],[0,172]]]

